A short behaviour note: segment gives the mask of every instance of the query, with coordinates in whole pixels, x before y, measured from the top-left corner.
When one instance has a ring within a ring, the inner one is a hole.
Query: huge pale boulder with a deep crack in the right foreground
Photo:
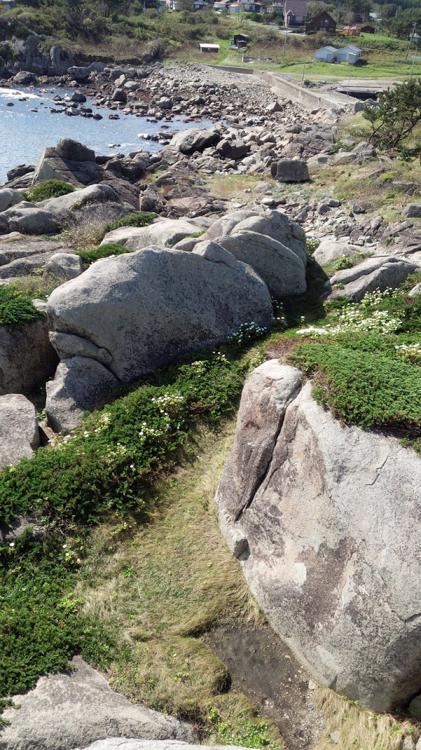
[[[272,628],[321,684],[376,711],[421,688],[421,461],[341,425],[298,370],[248,379],[217,492]]]

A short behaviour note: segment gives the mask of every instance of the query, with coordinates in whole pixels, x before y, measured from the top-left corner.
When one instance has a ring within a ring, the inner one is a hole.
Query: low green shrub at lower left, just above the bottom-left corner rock
[[[0,696],[26,692],[76,653],[101,666],[111,651],[105,629],[79,614],[77,566],[65,548],[63,540],[32,549],[21,540],[0,554]]]

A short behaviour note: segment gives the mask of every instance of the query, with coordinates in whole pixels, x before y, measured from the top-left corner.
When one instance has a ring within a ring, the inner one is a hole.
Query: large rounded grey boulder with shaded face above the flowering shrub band
[[[97,261],[51,294],[48,312],[52,342],[65,364],[59,388],[57,381],[49,385],[47,413],[54,421],[59,400],[62,424],[63,411],[89,408],[84,393],[90,378],[78,385],[76,373],[84,363],[95,366],[97,400],[113,381],[129,383],[180,355],[215,346],[243,323],[272,322],[266,285],[222,247],[216,259],[149,247]]]

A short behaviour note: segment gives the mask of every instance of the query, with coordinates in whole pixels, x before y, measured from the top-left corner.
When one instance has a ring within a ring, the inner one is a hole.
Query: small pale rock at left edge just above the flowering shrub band
[[[35,407],[25,396],[0,396],[0,469],[29,458],[39,445]]]

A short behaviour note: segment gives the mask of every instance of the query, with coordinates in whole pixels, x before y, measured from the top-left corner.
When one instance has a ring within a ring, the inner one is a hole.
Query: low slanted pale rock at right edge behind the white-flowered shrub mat
[[[359,302],[367,292],[396,289],[419,268],[416,263],[397,256],[368,258],[353,268],[338,271],[331,278],[331,297],[349,297]]]

